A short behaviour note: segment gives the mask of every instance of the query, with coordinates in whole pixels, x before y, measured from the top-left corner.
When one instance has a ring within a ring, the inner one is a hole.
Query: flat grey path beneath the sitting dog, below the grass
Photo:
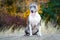
[[[0,36],[0,40],[60,40],[60,34],[39,36]]]

